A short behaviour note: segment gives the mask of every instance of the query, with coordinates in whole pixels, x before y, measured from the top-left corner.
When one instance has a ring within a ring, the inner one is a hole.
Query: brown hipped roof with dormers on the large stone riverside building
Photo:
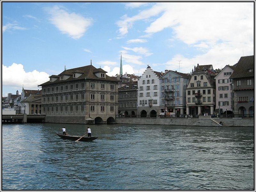
[[[79,77],[74,79],[73,74],[76,72],[82,73],[82,75],[80,75]],[[101,68],[98,68],[98,69],[95,68],[93,65],[87,65],[87,66],[73,68],[73,69],[66,69],[58,75],[58,79],[56,81],[54,81],[54,82],[48,81],[48,82],[42,83],[39,86],[60,82],[60,76],[62,76],[62,75],[69,75],[70,77],[66,80],[62,80],[61,82],[67,82],[67,81],[73,81],[73,80],[79,80],[79,79],[108,80],[108,81],[120,82],[115,77],[110,77],[108,75],[106,75],[106,78],[104,78],[104,79],[99,78],[95,75],[95,73],[98,73],[98,72],[107,73],[106,71],[104,71]]]

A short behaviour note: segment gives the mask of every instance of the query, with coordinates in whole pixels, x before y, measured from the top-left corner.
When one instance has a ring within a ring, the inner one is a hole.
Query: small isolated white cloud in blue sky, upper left
[[[91,18],[84,18],[76,13],[68,13],[59,6],[46,8],[51,15],[49,19],[62,33],[68,34],[73,39],[79,39],[87,28],[92,25]]]

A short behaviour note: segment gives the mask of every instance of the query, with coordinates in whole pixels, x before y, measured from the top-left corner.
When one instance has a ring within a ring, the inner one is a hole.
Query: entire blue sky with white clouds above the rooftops
[[[2,96],[91,64],[115,76],[190,73],[254,55],[251,2],[1,1]]]

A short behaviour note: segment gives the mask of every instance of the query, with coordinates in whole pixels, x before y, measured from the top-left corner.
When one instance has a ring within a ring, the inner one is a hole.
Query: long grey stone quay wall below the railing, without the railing
[[[242,117],[116,117],[117,124],[155,124],[155,125],[183,125],[183,126],[204,126],[204,127],[254,127],[254,118]]]

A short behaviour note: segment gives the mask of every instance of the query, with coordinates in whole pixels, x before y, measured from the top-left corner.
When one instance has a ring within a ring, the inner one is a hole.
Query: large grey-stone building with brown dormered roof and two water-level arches
[[[106,73],[91,64],[50,76],[39,85],[45,122],[114,123],[119,80]]]

